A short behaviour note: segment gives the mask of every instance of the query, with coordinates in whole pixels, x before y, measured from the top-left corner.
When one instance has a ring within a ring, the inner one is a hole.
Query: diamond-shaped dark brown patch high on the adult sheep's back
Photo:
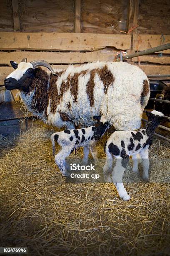
[[[105,87],[105,93],[107,92],[108,86],[114,82],[115,78],[113,77],[113,74],[110,72],[109,69],[107,69],[107,65],[105,65],[102,69],[97,70],[97,74],[100,77],[100,80],[102,80],[104,87]]]

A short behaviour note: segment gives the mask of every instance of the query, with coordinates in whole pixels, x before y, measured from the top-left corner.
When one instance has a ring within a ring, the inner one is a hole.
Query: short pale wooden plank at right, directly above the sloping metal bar
[[[134,35],[133,36],[133,50],[134,51],[143,51],[150,49],[162,44],[170,43],[170,35],[164,35],[165,41],[161,35]],[[170,49],[163,51],[164,54],[170,54]]]

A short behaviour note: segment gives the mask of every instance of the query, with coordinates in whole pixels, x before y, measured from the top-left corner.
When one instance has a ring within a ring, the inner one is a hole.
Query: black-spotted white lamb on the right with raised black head
[[[146,128],[141,128],[138,131],[116,131],[112,133],[107,140],[105,153],[106,163],[103,168],[104,178],[106,182],[115,184],[117,192],[123,200],[130,200],[125,187],[122,183],[122,177],[125,168],[129,161],[129,156],[133,156],[133,171],[138,172],[138,158],[140,154],[143,164],[143,179],[148,179],[149,159],[148,151],[153,141],[153,133],[155,129],[164,121],[163,113],[153,110],[151,113],[147,112],[148,123]],[[110,177],[110,170],[112,168],[112,157],[117,159],[115,167],[112,171],[112,180]]]

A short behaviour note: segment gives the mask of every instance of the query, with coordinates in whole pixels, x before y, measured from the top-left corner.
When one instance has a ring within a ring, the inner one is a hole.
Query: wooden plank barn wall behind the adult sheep
[[[0,0],[0,85],[10,60],[45,59],[57,68],[166,43],[170,0]],[[170,72],[170,50],[129,61],[146,74]]]

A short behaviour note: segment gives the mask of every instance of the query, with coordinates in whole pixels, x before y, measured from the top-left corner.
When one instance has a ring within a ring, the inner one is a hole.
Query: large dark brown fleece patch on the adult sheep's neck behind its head
[[[35,90],[32,99],[32,109],[37,110],[42,113],[47,110],[48,93],[48,74],[41,68],[35,69],[35,77],[32,79],[32,84],[30,85],[30,90]]]

